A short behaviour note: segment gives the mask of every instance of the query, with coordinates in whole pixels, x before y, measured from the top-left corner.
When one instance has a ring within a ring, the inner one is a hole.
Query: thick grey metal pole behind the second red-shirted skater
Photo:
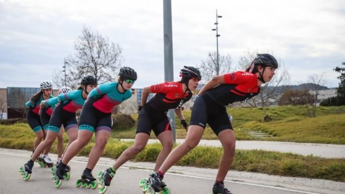
[[[164,80],[174,81],[174,63],[172,61],[172,21],[171,0],[163,0],[163,25],[164,25]],[[168,117],[174,142],[176,142],[175,111],[169,110]]]

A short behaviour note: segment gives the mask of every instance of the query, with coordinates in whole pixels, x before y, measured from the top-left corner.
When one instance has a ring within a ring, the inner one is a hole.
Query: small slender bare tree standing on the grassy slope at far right
[[[322,89],[322,87],[326,84],[324,75],[325,73],[322,73],[321,75],[313,74],[309,76],[309,81],[311,81],[312,83],[309,86],[309,93],[312,95],[312,101],[310,104],[312,106],[312,110],[310,110],[308,104],[306,105],[309,117],[316,117],[316,105],[318,103],[317,96],[319,95],[319,92]]]

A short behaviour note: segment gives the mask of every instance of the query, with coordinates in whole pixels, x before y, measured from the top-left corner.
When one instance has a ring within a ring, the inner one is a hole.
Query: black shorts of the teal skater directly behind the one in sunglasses
[[[66,132],[70,128],[78,128],[76,113],[71,113],[67,110],[64,110],[62,107],[63,103],[60,103],[54,108],[49,120],[48,130],[59,133],[61,124],[63,124],[63,127],[65,127]]]

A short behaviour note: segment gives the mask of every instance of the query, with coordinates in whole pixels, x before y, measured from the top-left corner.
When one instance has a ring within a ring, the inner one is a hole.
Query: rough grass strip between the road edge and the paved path
[[[27,124],[15,124],[12,126],[0,125],[0,147],[31,150],[34,138],[34,133],[32,133],[31,129],[28,129]],[[90,143],[79,155],[88,156],[94,141],[95,139],[92,138]],[[67,138],[65,134],[65,146],[66,144]],[[132,142],[120,142],[117,139],[110,138],[103,156],[118,158],[131,145]],[[147,145],[144,151],[139,153],[133,160],[155,162],[160,150],[160,144]],[[51,152],[56,153],[56,144],[52,146]],[[218,168],[222,153],[222,148],[197,146],[176,165]],[[236,150],[232,169],[271,175],[322,178],[345,182],[345,159],[326,159],[261,150]]]

